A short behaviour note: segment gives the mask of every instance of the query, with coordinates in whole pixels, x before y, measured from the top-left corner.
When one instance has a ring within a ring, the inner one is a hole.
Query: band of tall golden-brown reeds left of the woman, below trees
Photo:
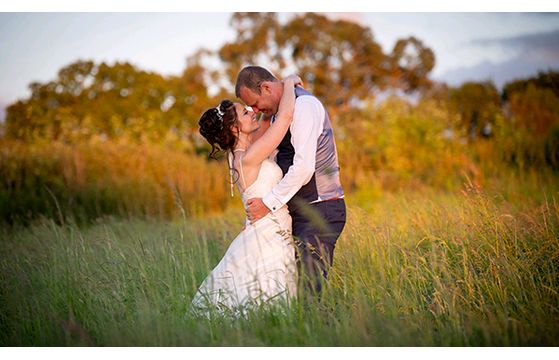
[[[168,219],[230,205],[226,165],[157,145],[1,140],[0,175],[0,220],[9,223]]]

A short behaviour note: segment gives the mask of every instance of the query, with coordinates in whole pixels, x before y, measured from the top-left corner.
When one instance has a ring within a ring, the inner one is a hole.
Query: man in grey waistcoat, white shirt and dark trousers
[[[243,68],[235,93],[254,112],[277,113],[283,83],[260,66]],[[276,161],[282,180],[263,198],[249,199],[247,215],[255,222],[287,204],[293,219],[299,274],[308,290],[319,294],[332,266],[334,247],[346,221],[338,155],[328,113],[301,87],[295,89],[295,110]]]

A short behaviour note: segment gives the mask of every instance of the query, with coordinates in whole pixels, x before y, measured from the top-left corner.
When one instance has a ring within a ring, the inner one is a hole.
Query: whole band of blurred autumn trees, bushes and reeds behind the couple
[[[369,28],[312,13],[286,23],[237,13],[231,26],[232,42],[200,49],[179,75],[79,60],[31,84],[0,128],[0,220],[172,218],[238,206],[197,121],[234,98],[247,64],[298,73],[323,101],[349,193],[374,199],[403,188],[452,190],[465,179],[483,186],[503,169],[559,169],[553,70],[502,92],[491,82],[449,87],[430,79],[435,54],[415,37],[385,53]]]

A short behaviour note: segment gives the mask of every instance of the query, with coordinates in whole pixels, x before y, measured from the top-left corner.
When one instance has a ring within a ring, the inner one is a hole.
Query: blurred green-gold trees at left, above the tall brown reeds
[[[78,61],[54,81],[31,84],[31,97],[8,107],[6,137],[66,143],[102,137],[192,148],[199,115],[212,102],[203,77],[195,61],[170,78],[128,63]]]

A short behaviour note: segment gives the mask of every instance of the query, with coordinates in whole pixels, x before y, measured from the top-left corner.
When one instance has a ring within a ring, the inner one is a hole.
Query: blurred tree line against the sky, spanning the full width
[[[492,136],[499,116],[534,136],[546,136],[558,123],[554,70],[509,82],[501,92],[492,82],[449,87],[430,79],[435,54],[415,37],[383,52],[370,28],[314,13],[284,24],[275,13],[235,13],[230,25],[235,39],[216,51],[198,50],[180,75],[164,77],[129,63],[69,64],[56,79],[30,84],[31,96],[7,108],[3,136],[67,143],[125,139],[202,151],[200,114],[233,97],[235,77],[246,64],[301,74],[334,119],[370,105],[384,91],[399,91],[437,101],[448,111],[448,127],[468,141]]]

